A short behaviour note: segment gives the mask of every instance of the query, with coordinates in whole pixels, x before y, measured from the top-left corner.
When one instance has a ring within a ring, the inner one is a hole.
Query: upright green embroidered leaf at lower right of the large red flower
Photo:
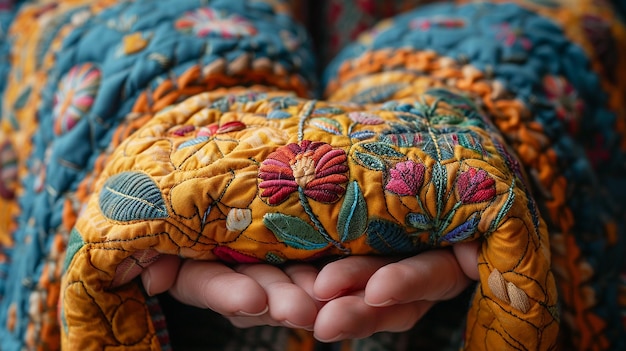
[[[351,241],[365,234],[367,228],[367,204],[357,182],[352,182],[346,189],[339,218],[337,232],[341,242]]]

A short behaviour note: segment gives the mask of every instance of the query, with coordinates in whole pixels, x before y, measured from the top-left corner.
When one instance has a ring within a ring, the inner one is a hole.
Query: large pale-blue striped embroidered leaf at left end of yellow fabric
[[[100,192],[100,210],[115,221],[167,218],[161,190],[145,173],[123,172],[109,178]]]

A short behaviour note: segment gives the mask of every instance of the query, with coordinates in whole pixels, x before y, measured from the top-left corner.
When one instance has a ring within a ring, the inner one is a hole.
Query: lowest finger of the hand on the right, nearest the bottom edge
[[[415,325],[434,305],[416,301],[372,307],[361,296],[348,295],[329,301],[318,313],[315,338],[323,342],[365,338],[381,331],[402,332]]]

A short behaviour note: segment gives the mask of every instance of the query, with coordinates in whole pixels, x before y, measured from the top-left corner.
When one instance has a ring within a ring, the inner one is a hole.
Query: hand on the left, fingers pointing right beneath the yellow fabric
[[[181,260],[162,256],[141,274],[144,288],[154,295],[169,291],[178,301],[211,309],[233,325],[285,326],[312,330],[321,303],[314,300],[318,270],[308,264],[278,268]]]

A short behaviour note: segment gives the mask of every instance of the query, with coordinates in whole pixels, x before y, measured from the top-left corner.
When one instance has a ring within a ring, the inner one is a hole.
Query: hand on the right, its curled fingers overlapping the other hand
[[[436,302],[478,280],[478,247],[462,243],[395,262],[351,256],[326,265],[313,287],[317,299],[328,301],[317,314],[315,337],[332,342],[412,328]]]

